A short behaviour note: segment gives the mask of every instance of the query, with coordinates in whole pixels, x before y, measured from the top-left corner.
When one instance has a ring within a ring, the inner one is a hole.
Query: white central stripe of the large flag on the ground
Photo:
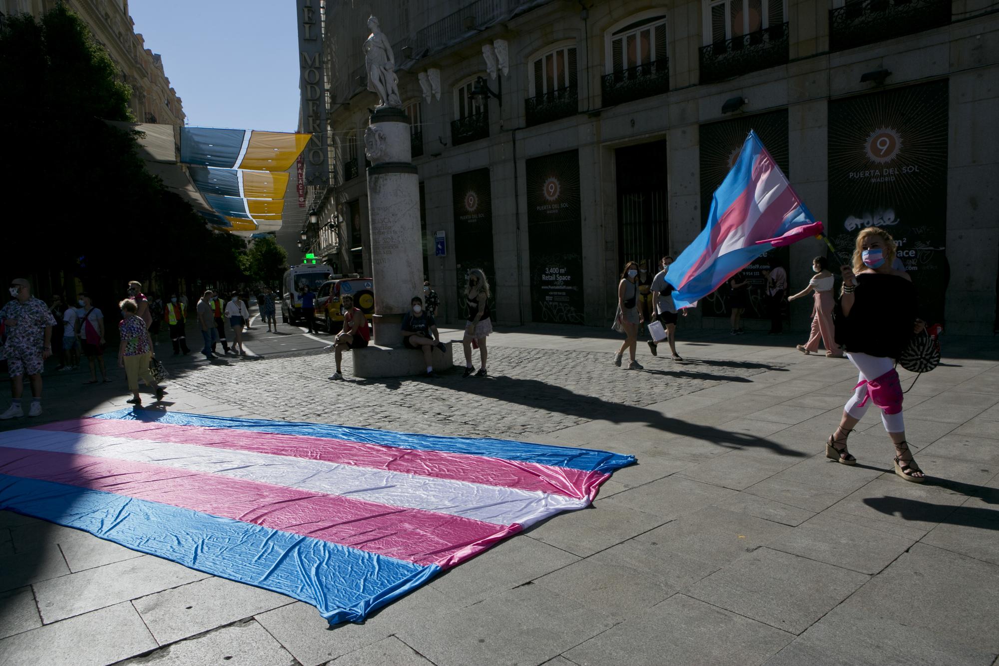
[[[0,433],[6,448],[81,454],[128,460],[192,472],[259,481],[299,490],[347,496],[390,506],[463,516],[498,525],[529,525],[553,513],[589,504],[563,495],[468,481],[391,472],[321,460],[217,449],[194,444],[151,442],[73,432]]]

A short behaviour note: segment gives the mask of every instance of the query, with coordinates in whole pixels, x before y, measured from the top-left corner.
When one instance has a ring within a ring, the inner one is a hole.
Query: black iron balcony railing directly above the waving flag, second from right
[[[787,23],[700,49],[700,82],[714,83],[787,64]]]

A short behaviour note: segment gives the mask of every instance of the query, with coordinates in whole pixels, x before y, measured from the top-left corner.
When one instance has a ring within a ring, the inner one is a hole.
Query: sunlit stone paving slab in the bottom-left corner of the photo
[[[121,603],[0,640],[0,664],[103,666],[156,647],[132,604]]]

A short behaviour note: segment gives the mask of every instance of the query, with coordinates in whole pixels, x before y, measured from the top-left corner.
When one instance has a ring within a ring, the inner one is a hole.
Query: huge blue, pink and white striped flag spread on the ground
[[[606,451],[121,410],[0,433],[0,509],[360,622],[588,506]]]

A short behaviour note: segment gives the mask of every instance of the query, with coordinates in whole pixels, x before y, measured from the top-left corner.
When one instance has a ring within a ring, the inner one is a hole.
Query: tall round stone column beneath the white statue
[[[420,238],[420,178],[411,161],[410,120],[406,112],[382,107],[365,130],[368,218],[372,278],[375,281],[375,344],[401,347],[403,315],[423,294]]]

